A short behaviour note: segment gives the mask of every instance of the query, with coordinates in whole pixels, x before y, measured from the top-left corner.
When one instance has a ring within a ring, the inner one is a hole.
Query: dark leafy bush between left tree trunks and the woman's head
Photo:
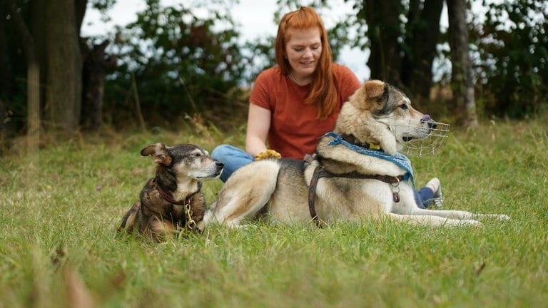
[[[215,105],[232,106],[246,63],[239,34],[225,6],[208,9],[206,18],[196,16],[197,9],[205,7],[147,1],[137,21],[119,29],[116,56],[123,66],[106,83],[111,106],[123,102],[128,89],[134,88],[145,116],[151,115],[146,111],[155,111],[156,116],[173,119]],[[133,92],[133,100],[135,96]]]

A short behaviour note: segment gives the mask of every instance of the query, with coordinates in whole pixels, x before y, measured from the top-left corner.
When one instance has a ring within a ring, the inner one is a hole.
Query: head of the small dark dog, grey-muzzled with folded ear
[[[224,167],[223,163],[210,158],[203,148],[192,144],[166,146],[163,143],[155,143],[143,148],[141,155],[152,155],[154,163],[166,168],[176,177],[196,180],[218,178]]]

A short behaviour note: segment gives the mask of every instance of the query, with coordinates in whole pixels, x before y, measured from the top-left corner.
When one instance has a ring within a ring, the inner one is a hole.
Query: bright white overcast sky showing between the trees
[[[177,6],[184,0],[163,0],[164,4]],[[343,0],[332,0],[336,10],[322,11],[320,14],[325,26],[330,28],[340,16],[352,10],[352,4]],[[111,21],[101,21],[101,14],[98,11],[88,8],[84,16],[81,34],[82,36],[105,35],[113,32],[115,26],[125,26],[136,21],[138,11],[146,8],[144,0],[117,0],[116,5],[108,11]],[[277,9],[276,0],[239,0],[231,11],[233,19],[237,21],[240,34],[244,41],[252,41],[260,37],[275,36],[278,25],[274,23],[273,16]],[[200,14],[200,12],[197,12]],[[369,79],[370,71],[367,68],[367,51],[360,51],[357,48],[342,50],[339,60],[340,64],[348,66],[360,81]]]

